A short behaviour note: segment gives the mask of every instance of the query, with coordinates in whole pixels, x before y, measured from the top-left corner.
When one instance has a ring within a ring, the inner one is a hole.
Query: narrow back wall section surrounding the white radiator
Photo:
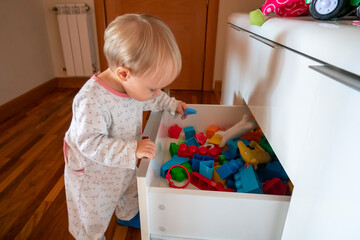
[[[62,52],[62,46],[60,41],[60,32],[59,26],[57,22],[56,13],[52,11],[52,8],[56,6],[56,4],[67,4],[67,3],[86,3],[90,6],[89,14],[92,19],[92,29],[93,29],[93,38],[95,40],[95,49],[96,49],[96,68],[97,71],[100,69],[99,64],[99,51],[98,51],[98,43],[96,37],[96,25],[95,25],[95,8],[94,8],[94,0],[42,0],[44,5],[45,12],[45,20],[47,31],[49,34],[50,40],[50,48],[51,48],[51,56],[55,71],[56,77],[67,77],[66,72],[62,69],[65,67],[64,56]]]

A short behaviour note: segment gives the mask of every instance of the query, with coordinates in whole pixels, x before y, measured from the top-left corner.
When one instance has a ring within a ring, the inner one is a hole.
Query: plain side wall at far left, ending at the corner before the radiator
[[[54,77],[42,0],[0,1],[0,105]]]

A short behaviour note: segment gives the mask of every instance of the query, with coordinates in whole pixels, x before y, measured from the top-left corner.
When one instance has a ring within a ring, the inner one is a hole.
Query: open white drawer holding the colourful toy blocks
[[[142,159],[138,171],[142,239],[280,239],[289,196],[215,192],[168,187],[160,177],[170,157],[168,128],[193,126],[205,132],[210,125],[229,128],[251,114],[244,106],[190,105],[197,114],[181,120],[153,112],[144,136],[158,145],[156,159]]]

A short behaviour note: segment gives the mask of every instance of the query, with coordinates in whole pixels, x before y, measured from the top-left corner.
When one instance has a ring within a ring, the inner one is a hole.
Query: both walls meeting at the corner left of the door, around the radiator
[[[94,0],[0,1],[0,105],[55,78],[66,77],[56,13],[62,3],[90,6],[95,39]]]

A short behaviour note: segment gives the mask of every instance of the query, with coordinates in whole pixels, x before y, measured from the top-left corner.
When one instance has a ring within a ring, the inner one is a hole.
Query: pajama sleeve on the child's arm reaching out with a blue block
[[[176,100],[175,98],[169,97],[166,93],[161,91],[160,95],[154,99],[144,102],[144,111],[169,111],[171,114],[175,115],[176,107],[181,101]]]

